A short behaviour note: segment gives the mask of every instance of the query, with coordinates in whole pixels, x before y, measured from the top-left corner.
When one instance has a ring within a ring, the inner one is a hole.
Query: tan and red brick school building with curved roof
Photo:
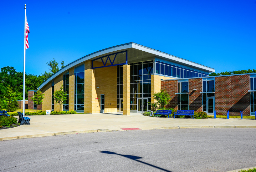
[[[38,90],[45,94],[42,110],[59,111],[54,90],[63,85],[68,100],[61,110],[123,115],[151,110],[153,94],[166,90],[166,107],[213,114],[254,115],[256,74],[209,77],[210,68],[136,43],[86,55],[54,73]],[[29,91],[29,95],[36,90]],[[28,101],[30,108],[35,108]]]

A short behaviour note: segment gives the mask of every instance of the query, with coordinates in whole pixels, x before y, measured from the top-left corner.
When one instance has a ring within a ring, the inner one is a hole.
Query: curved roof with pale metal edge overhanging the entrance
[[[105,49],[102,49],[100,51],[96,51],[94,53],[88,54],[88,55],[86,55],[82,58],[79,58],[78,60],[75,60],[74,62],[69,63],[67,66],[60,69],[56,73],[54,73],[51,77],[49,77],[47,80],[45,80],[44,83],[42,83],[37,89],[38,90],[42,89],[45,85],[47,85],[49,82],[53,81],[54,78],[56,78],[60,74],[66,73],[67,71],[69,71],[70,68],[74,68],[74,67],[84,63],[85,61],[93,60],[95,58],[99,58],[99,57],[101,57],[103,55],[106,55],[106,54],[109,54],[109,53],[115,53],[115,52],[118,52],[118,51],[130,50],[132,48],[133,48],[133,50],[128,52],[128,56],[129,56],[128,57],[128,63],[129,63],[129,61],[135,59],[133,57],[134,54],[136,56],[138,54],[141,54],[141,56],[143,56],[144,58],[155,56],[155,57],[163,58],[163,59],[166,59],[166,60],[170,60],[170,61],[178,62],[178,63],[181,63],[181,64],[185,64],[185,65],[188,65],[188,66],[192,66],[193,68],[201,69],[201,70],[204,70],[204,71],[215,72],[214,68],[210,68],[210,67],[204,66],[202,64],[198,64],[198,63],[195,63],[195,62],[183,59],[183,58],[179,58],[179,57],[174,56],[172,54],[164,53],[164,52],[161,52],[161,51],[158,51],[158,50],[155,50],[155,49],[145,47],[143,45],[131,42],[131,43],[125,43],[125,44],[121,44],[121,45],[116,45],[116,46],[110,47],[110,48],[105,48]],[[133,54],[133,55],[129,55],[129,53]],[[138,58],[136,58],[136,59],[138,59]]]

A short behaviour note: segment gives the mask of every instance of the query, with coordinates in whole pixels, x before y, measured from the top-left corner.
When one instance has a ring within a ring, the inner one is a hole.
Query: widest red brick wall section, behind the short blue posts
[[[250,75],[215,77],[215,110],[218,115],[250,115]]]

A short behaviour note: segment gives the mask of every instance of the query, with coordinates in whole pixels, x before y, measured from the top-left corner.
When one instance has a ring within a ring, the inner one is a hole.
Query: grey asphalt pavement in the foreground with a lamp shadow
[[[256,129],[156,129],[1,141],[1,171],[229,171],[255,166]]]

